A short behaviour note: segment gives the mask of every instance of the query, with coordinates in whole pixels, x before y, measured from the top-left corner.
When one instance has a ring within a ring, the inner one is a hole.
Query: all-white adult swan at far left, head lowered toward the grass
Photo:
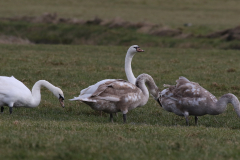
[[[9,112],[12,113],[13,107],[37,107],[41,101],[41,86],[48,88],[60,101],[64,107],[64,95],[60,88],[55,87],[45,80],[37,81],[32,92],[19,80],[12,77],[0,76],[0,106],[3,112],[5,105],[9,106]]]

